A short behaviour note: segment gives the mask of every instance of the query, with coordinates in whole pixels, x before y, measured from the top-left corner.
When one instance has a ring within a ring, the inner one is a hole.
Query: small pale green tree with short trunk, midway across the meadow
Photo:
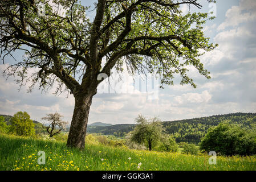
[[[148,146],[148,150],[152,150],[152,146],[159,142],[162,138],[162,125],[158,118],[149,119],[149,122],[143,115],[139,115],[135,119],[137,123],[135,129],[131,133],[131,140],[139,144],[144,143]]]

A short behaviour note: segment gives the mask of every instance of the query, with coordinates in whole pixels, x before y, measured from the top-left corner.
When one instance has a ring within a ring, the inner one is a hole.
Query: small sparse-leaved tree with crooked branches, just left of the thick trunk
[[[61,130],[65,130],[68,122],[62,121],[63,116],[59,113],[55,114],[47,114],[47,117],[43,117],[43,120],[50,122],[48,126],[44,126],[43,128],[46,129],[47,133],[50,134],[50,138],[56,134],[60,134]]]

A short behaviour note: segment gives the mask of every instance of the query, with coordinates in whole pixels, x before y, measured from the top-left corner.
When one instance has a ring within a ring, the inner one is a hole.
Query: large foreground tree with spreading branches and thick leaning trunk
[[[161,86],[173,84],[177,74],[182,85],[196,87],[187,75],[192,65],[210,78],[198,56],[217,46],[202,31],[202,24],[211,17],[207,13],[183,15],[180,10],[181,5],[200,9],[196,0],[98,0],[92,21],[86,16],[88,7],[76,0],[40,2],[45,14],[34,0],[1,0],[1,57],[4,62],[6,56],[22,49],[25,59],[10,65],[7,76],[20,76],[21,85],[30,80],[30,89],[36,82],[47,89],[57,81],[56,93],[69,90],[74,95],[70,147],[84,148],[92,97],[103,81],[100,74],[110,76],[111,69],[122,71],[125,64],[131,75],[159,75]],[[34,67],[38,72],[27,76],[27,69]]]

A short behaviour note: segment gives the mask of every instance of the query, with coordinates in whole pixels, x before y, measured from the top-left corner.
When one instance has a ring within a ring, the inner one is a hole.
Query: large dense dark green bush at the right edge
[[[220,155],[254,155],[256,154],[256,133],[246,131],[238,125],[220,123],[209,129],[200,143],[201,150],[216,151]]]

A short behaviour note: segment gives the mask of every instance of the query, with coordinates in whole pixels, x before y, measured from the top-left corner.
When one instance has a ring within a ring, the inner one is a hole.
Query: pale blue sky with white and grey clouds
[[[134,84],[128,73],[124,72],[121,75],[123,82],[117,82],[118,75],[114,73],[108,80],[110,85],[99,85],[99,93],[92,100],[88,123],[134,123],[138,114],[174,121],[256,112],[256,1],[225,0],[210,5],[206,0],[200,2],[203,5],[200,11],[213,11],[216,15],[216,19],[205,24],[204,32],[211,42],[219,46],[200,57],[212,79],[207,80],[190,68],[189,76],[197,84],[196,89],[190,85],[181,86],[177,77],[174,85],[165,85],[165,89],[157,89],[155,80],[152,92],[145,92],[145,82],[140,82],[139,77]],[[93,1],[82,1],[82,4],[93,6]],[[189,11],[186,6],[181,8],[184,13]],[[91,19],[94,15],[93,11],[87,13]],[[23,52],[18,51],[14,55],[21,57]],[[0,72],[12,61],[1,63]],[[0,75],[0,114],[13,115],[17,111],[27,111],[32,119],[43,122],[41,118],[46,114],[58,112],[65,121],[71,122],[74,109],[72,95],[55,96],[53,89],[42,93],[38,88],[27,93],[27,86],[18,91],[19,86],[14,80],[11,77],[6,81],[6,77]],[[116,88],[116,93],[109,93],[113,88]],[[108,92],[106,89],[109,89]]]

